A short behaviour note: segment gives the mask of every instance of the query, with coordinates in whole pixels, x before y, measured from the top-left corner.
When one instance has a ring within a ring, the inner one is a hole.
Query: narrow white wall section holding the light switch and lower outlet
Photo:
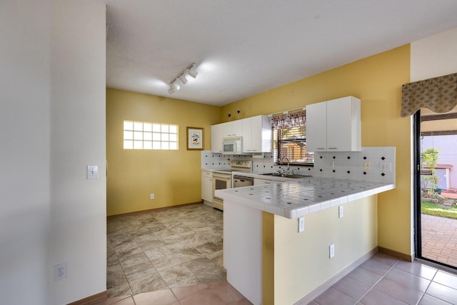
[[[51,304],[106,290],[106,6],[53,1],[51,43]],[[99,179],[86,179],[86,166]]]

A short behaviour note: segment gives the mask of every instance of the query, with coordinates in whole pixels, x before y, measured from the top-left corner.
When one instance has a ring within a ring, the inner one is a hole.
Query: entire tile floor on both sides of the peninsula
[[[222,213],[204,205],[108,221],[109,299],[99,305],[247,305],[225,280]],[[457,304],[457,274],[378,253],[318,296],[326,304]]]

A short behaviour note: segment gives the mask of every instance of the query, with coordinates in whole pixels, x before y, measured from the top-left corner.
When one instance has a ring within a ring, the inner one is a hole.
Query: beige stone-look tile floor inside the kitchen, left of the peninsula
[[[108,295],[226,279],[222,212],[203,204],[144,211],[107,223]]]

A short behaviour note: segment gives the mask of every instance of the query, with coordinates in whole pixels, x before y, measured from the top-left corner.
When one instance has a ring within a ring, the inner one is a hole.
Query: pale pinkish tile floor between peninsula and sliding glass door
[[[378,253],[311,304],[457,304],[457,274]]]

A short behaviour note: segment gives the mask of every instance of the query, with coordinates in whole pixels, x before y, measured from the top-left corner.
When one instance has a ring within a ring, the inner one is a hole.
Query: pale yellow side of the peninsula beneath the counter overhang
[[[375,195],[344,204],[341,219],[338,206],[308,214],[303,233],[297,232],[297,219],[274,216],[274,304],[294,304],[376,248],[376,199]],[[263,304],[272,303],[264,299]]]

